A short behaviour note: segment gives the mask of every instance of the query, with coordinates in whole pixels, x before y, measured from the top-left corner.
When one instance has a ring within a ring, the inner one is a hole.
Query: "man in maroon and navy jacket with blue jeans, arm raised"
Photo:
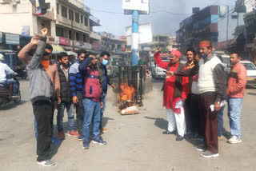
[[[93,142],[100,145],[106,145],[106,141],[100,137],[100,121],[102,103],[102,87],[100,85],[100,78],[97,70],[97,59],[94,55],[86,58],[78,67],[83,78],[83,148],[89,149],[90,144],[90,125],[93,129]]]

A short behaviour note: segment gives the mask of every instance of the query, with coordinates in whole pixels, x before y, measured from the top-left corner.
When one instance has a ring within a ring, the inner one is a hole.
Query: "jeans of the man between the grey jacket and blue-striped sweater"
[[[62,101],[58,104],[58,113],[57,113],[57,126],[58,126],[58,133],[63,131],[63,117],[64,111],[66,108],[66,113],[68,116],[68,130],[71,132],[74,130],[74,103]]]

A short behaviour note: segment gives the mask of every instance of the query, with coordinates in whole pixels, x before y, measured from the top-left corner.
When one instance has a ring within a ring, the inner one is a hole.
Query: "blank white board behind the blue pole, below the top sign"
[[[130,46],[132,44],[132,27],[126,27],[126,40],[127,45]],[[138,44],[152,42],[152,30],[151,24],[145,23],[140,24],[138,27]]]

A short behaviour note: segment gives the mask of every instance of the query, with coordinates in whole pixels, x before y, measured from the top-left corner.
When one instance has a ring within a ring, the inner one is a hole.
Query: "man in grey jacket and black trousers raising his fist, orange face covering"
[[[52,116],[54,102],[54,79],[56,74],[49,71],[51,50],[46,49],[47,29],[42,29],[42,38],[33,58],[26,67],[30,78],[30,99],[32,101],[34,117],[37,121],[38,164],[54,165],[50,161],[50,143],[52,139]]]

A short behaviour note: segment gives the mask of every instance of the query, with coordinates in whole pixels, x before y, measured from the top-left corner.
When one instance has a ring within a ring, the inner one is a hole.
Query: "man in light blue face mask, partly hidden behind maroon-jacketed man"
[[[101,109],[101,125],[100,129],[103,132],[107,132],[108,129],[102,127],[102,116],[106,109],[106,91],[107,91],[107,85],[111,85],[112,88],[114,88],[114,84],[110,82],[110,78],[107,75],[106,66],[110,63],[110,54],[106,51],[103,51],[100,54],[100,58],[98,60],[98,73],[100,75],[100,82],[102,83],[102,102],[103,102],[103,108]]]

